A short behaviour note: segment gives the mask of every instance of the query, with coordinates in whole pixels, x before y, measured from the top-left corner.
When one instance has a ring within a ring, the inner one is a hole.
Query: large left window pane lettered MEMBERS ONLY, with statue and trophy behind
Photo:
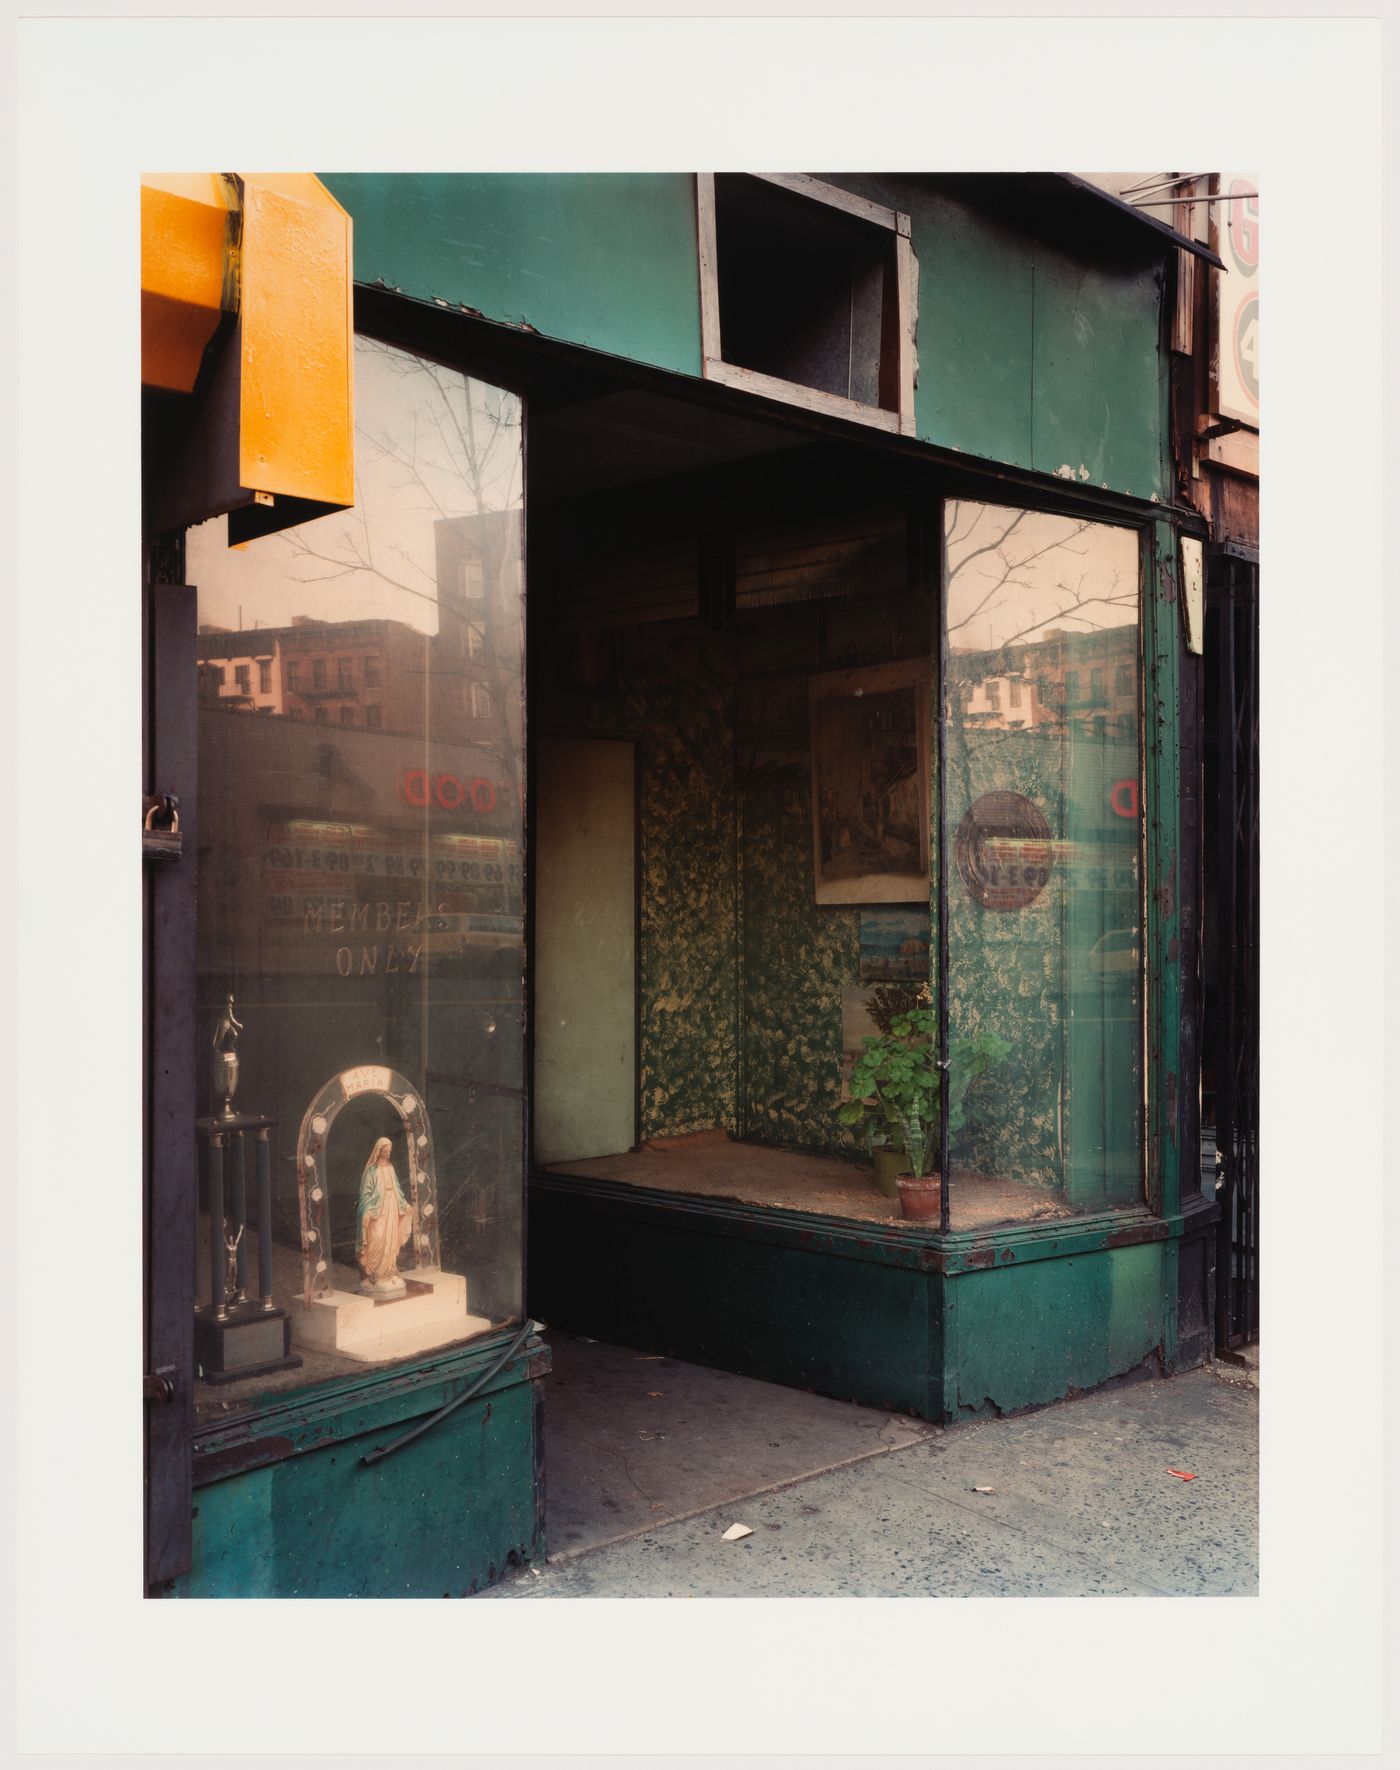
[[[520,1313],[520,476],[359,338],[354,508],[189,535],[202,1414]]]

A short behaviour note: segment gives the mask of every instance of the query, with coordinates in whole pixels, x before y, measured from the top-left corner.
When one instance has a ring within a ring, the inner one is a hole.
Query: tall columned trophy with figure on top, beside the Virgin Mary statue
[[[214,1028],[216,1112],[196,1119],[209,1172],[209,1303],[195,1310],[195,1358],[205,1382],[234,1382],[301,1363],[292,1352],[292,1322],[273,1301],[273,1158],[276,1124],[234,1106],[239,1085],[239,1034],[232,993]],[[248,1138],[257,1172],[258,1283],[248,1285]],[[228,1211],[225,1212],[225,1181]]]

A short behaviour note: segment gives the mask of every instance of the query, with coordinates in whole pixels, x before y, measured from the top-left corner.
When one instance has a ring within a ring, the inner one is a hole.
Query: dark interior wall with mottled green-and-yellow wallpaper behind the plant
[[[593,627],[559,618],[566,533],[547,559],[535,722],[639,745],[641,1136],[862,1154],[835,1122],[860,906],[816,903],[809,680],[927,657],[927,593]]]

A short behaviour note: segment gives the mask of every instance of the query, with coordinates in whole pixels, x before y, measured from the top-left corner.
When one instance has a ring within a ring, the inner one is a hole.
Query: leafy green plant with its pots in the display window
[[[940,1140],[940,1099],[935,1062],[938,1027],[927,991],[922,991],[922,1000],[913,1007],[888,1012],[885,1020],[880,1037],[862,1041],[864,1050],[851,1069],[851,1097],[837,1108],[837,1120],[848,1126],[865,1124],[880,1191],[897,1197],[904,1216],[931,1218],[938,1211],[938,1182],[931,1170]],[[950,1136],[966,1126],[966,1094],[972,1083],[1009,1051],[1011,1044],[995,1032],[979,1032],[952,1046]],[[894,1175],[888,1175],[890,1166]]]

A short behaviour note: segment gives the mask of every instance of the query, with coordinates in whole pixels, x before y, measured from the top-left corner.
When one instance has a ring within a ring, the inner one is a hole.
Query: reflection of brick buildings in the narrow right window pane
[[[1035,641],[949,658],[963,717],[988,731],[1076,724],[1094,736],[1138,735],[1138,630],[1050,628]]]

